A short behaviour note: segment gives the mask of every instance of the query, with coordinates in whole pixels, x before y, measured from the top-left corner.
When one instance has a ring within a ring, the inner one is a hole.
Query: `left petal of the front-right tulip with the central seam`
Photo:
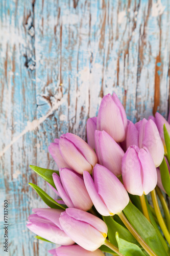
[[[122,178],[127,191],[132,195],[142,196],[141,164],[138,159],[137,146],[128,147],[122,160]]]

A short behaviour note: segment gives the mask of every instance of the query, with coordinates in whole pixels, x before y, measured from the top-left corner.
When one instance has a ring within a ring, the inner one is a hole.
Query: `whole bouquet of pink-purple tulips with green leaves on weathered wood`
[[[58,256],[170,255],[169,123],[156,113],[133,124],[108,94],[86,129],[87,143],[66,133],[48,147],[59,170],[30,165],[56,198],[29,183],[47,207],[27,227]]]

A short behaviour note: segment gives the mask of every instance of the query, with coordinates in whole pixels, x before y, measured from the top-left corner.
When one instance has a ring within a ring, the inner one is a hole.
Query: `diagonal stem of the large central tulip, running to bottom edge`
[[[123,212],[120,212],[118,214],[119,218],[123,221],[125,226],[129,229],[131,234],[133,234],[134,238],[138,241],[138,243],[143,247],[143,249],[148,252],[150,256],[157,256],[155,252],[148,246],[147,243],[144,242],[144,240],[140,237],[138,232],[134,229],[134,227],[130,224],[130,222],[127,220]]]

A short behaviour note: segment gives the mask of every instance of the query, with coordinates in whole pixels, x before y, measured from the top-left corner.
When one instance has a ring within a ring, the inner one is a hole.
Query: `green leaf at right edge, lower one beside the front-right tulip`
[[[170,177],[169,177],[168,167],[164,158],[159,168],[160,168],[162,185],[167,195],[170,197]]]

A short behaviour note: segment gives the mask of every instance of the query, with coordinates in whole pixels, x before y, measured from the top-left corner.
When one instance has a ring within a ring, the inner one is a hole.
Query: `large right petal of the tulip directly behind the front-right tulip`
[[[163,160],[164,147],[156,124],[151,119],[145,124],[145,134],[142,141],[142,147],[144,146],[148,148],[155,166],[158,167]]]

